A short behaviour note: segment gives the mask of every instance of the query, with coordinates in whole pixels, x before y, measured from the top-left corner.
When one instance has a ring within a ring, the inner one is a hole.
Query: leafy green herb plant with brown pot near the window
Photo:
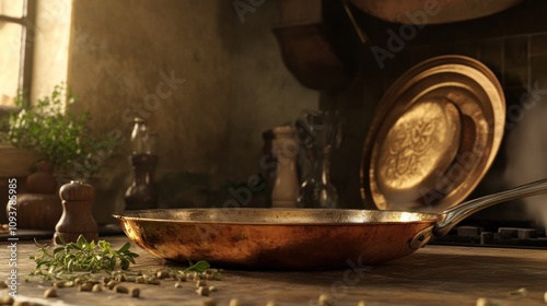
[[[26,228],[48,228],[62,212],[56,174],[66,176],[71,167],[86,163],[96,154],[102,139],[92,138],[88,127],[89,113],[74,114],[70,105],[75,97],[63,83],[54,87],[49,96],[44,96],[35,105],[28,103],[22,93],[15,99],[19,113],[10,116],[9,131],[4,141],[15,148],[37,152],[44,158],[35,164],[36,172],[26,179],[26,192],[18,197],[18,225]],[[98,172],[89,168],[89,176]],[[73,177],[72,179],[80,179]]]

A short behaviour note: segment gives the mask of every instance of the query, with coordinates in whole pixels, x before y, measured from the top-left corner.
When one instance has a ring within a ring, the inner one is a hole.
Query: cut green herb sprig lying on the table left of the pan
[[[88,242],[80,235],[75,243],[66,243],[56,247],[53,251],[49,246],[40,246],[38,254],[32,256],[36,262],[36,269],[32,275],[43,279],[61,279],[66,273],[83,272],[96,273],[98,271],[113,271],[115,269],[127,270],[130,263],[135,264],[135,258],[139,257],[129,250],[130,243],[126,243],[119,249],[113,249],[106,240]]]

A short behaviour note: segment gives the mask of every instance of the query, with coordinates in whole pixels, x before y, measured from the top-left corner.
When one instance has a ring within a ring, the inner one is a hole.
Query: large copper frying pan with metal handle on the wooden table
[[[176,209],[115,213],[126,235],[172,261],[214,267],[319,269],[407,256],[493,204],[547,192],[547,179],[442,213],[321,209]]]

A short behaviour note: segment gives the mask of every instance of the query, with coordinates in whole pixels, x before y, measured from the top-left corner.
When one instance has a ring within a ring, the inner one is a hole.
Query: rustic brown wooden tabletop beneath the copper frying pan
[[[121,246],[126,237],[107,237]],[[9,273],[10,251],[2,242],[0,280]],[[155,270],[172,266],[153,258],[137,246],[141,257],[133,270]],[[42,298],[47,286],[36,281],[24,282],[34,268],[28,256],[36,246],[18,243],[18,269],[21,284],[18,298],[46,301],[48,305],[202,305],[206,297],[197,295],[195,283],[174,287],[163,280],[159,286],[127,284],[141,289],[141,297],[132,298],[112,291],[77,292],[61,289],[58,298]],[[173,266],[176,267],[176,266]],[[220,267],[217,267],[220,268]],[[235,271],[225,270],[221,281],[209,281],[218,287],[210,297],[217,305],[229,305],[233,297],[242,305],[317,305],[322,293],[329,293],[335,305],[476,305],[478,297],[498,298],[503,305],[546,305],[547,251],[529,249],[494,249],[427,246],[406,258],[375,267],[333,271]],[[525,287],[525,297],[511,297],[509,292]],[[0,290],[5,295],[8,290]]]

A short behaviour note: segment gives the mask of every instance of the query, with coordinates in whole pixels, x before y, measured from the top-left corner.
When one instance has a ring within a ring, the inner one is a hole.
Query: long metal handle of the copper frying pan
[[[491,205],[545,192],[547,192],[547,178],[470,201],[465,201],[442,213],[443,220],[434,225],[433,234],[435,236],[446,235],[450,229],[462,220]]]

